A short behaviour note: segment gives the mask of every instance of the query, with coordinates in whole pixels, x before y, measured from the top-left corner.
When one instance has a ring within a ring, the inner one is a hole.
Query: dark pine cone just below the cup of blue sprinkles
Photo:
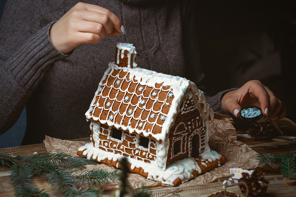
[[[247,133],[255,139],[267,139],[273,136],[283,135],[279,124],[268,120],[266,122],[253,122],[247,129]]]

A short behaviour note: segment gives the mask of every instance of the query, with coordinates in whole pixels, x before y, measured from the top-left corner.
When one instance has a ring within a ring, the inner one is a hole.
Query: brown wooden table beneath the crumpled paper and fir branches
[[[239,131],[237,131],[239,133]],[[252,138],[238,137],[239,141],[248,144],[256,152],[267,153],[279,153],[286,154],[296,150],[296,143],[287,143],[281,141],[258,141]],[[85,139],[83,139],[85,141]],[[18,146],[12,148],[2,148],[0,153],[7,153],[11,155],[18,154],[33,154],[34,152],[45,152],[46,149],[44,144],[34,144],[28,146]],[[287,186],[282,182],[283,176],[279,172],[279,169],[269,171],[266,169],[261,169],[265,172],[265,179],[269,180],[268,195],[264,196],[296,196],[296,185]],[[0,196],[14,196],[14,188],[9,183],[9,168],[0,167]],[[62,193],[57,193],[52,190],[50,185],[47,183],[47,178],[45,174],[35,176],[33,179],[33,185],[37,185],[39,188],[44,188],[50,196],[63,196]],[[151,196],[207,196],[208,194],[223,189],[223,186],[216,182],[207,183],[202,185],[192,185],[186,187],[165,187],[165,188],[151,188]],[[229,190],[240,193],[238,186],[229,187]],[[104,196],[112,196],[112,192],[104,192]]]

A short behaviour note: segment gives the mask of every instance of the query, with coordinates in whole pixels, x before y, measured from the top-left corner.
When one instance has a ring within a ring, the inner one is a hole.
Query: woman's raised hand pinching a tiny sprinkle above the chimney
[[[122,22],[108,9],[79,2],[52,25],[49,38],[57,50],[68,53],[80,44],[97,44],[105,35],[123,32]]]

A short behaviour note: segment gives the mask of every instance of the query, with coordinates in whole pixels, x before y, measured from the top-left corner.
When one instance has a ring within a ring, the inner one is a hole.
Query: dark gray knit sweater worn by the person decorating
[[[23,145],[41,143],[45,135],[89,136],[84,114],[108,63],[115,59],[117,42],[134,44],[140,67],[186,77],[202,89],[191,1],[82,1],[112,11],[126,35],[106,36],[99,44],[83,44],[62,54],[50,42],[49,29],[78,0],[7,2],[0,23],[0,134],[26,106]],[[225,92],[207,97],[215,112],[226,113],[221,107]]]

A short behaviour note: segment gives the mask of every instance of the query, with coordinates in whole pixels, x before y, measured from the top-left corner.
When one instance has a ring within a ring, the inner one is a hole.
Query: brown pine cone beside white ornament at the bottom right
[[[264,179],[264,172],[254,170],[254,172],[249,175],[246,172],[242,173],[242,178],[239,179],[240,184],[239,188],[241,189],[242,194],[248,193],[248,196],[257,196],[263,194],[267,191],[268,180]]]

